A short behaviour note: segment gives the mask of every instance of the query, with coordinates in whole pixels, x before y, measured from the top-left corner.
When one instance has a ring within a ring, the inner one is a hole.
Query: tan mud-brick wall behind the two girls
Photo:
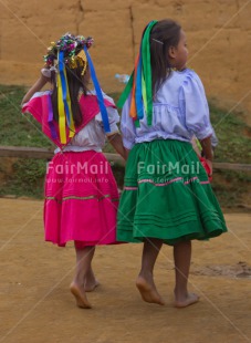
[[[172,18],[188,38],[189,66],[209,96],[251,111],[251,2],[247,0],[2,0],[0,77],[30,85],[51,41],[65,32],[92,35],[91,54],[106,92],[129,74],[144,27]],[[251,116],[247,118],[251,124]]]

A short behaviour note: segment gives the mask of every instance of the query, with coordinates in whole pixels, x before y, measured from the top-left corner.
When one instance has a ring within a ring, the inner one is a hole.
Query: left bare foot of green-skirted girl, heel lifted
[[[143,277],[138,277],[136,280],[136,287],[142,294],[142,299],[146,302],[157,303],[159,305],[165,305],[163,298],[156,290],[155,284],[150,284]]]

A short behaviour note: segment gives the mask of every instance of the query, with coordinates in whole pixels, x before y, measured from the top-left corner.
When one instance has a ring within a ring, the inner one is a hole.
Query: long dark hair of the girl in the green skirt
[[[153,94],[170,74],[168,50],[178,45],[180,31],[181,27],[171,19],[160,20],[151,29],[149,39]]]

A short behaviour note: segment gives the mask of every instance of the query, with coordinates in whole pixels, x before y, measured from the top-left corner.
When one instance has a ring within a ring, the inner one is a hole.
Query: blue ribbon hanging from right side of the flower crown
[[[100,110],[101,110],[101,116],[102,116],[102,121],[103,121],[103,124],[104,124],[104,129],[105,129],[106,133],[109,133],[111,128],[109,128],[109,122],[108,122],[108,114],[107,114],[107,111],[106,111],[106,107],[105,107],[104,97],[103,97],[103,94],[102,94],[102,91],[101,91],[101,86],[100,86],[97,77],[96,77],[95,69],[94,69],[94,65],[93,65],[93,62],[92,62],[92,59],[90,56],[90,53],[87,51],[87,46],[86,45],[84,45],[84,52],[85,52],[87,61],[88,61],[91,76],[92,76],[92,80],[93,80],[94,89],[96,91],[96,96],[97,96],[97,102],[98,102],[98,106],[100,106]]]

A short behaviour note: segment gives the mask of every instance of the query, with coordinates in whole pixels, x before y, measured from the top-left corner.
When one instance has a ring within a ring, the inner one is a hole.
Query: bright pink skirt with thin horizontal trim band
[[[44,200],[45,240],[64,247],[116,242],[118,191],[102,153],[66,152],[48,164]]]

